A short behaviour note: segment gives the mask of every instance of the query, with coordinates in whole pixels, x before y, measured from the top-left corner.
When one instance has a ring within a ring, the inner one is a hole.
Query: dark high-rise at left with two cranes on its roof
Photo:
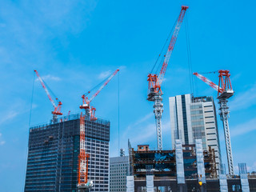
[[[77,191],[80,114],[30,127],[25,191]],[[90,191],[108,191],[110,122],[85,119]]]

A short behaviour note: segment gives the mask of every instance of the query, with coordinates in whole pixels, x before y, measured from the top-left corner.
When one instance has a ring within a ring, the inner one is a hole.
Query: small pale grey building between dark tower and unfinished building
[[[123,153],[121,152],[121,155]],[[126,191],[126,176],[129,175],[129,157],[110,158],[110,192]]]

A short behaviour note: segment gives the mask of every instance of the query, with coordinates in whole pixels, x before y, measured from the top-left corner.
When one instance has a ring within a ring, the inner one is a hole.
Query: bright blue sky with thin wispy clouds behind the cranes
[[[120,67],[120,146],[156,148],[153,104],[146,76],[178,17],[187,11],[193,71],[230,70],[230,134],[234,164],[256,170],[255,1],[2,1],[0,7],[0,191],[22,191],[26,172],[34,69],[63,102],[79,113],[81,95]],[[218,82],[216,74],[208,78]],[[168,97],[190,93],[186,33],[182,26],[162,84],[163,143],[169,149]],[[198,79],[195,96],[217,93]],[[110,156],[118,155],[118,78],[94,99],[97,116],[109,119]],[[106,102],[107,101],[107,102]],[[52,106],[34,83],[31,125],[49,122]],[[222,158],[226,161],[218,118]],[[15,179],[14,179],[15,178]],[[12,186],[10,188],[10,186]],[[8,190],[7,190],[8,189]]]

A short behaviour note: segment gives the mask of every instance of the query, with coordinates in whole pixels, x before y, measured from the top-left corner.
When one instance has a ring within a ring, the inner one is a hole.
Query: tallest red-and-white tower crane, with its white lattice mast
[[[167,53],[165,55],[164,62],[162,63],[162,68],[159,74],[149,74],[147,77],[147,81],[149,82],[148,86],[148,95],[147,100],[150,102],[154,102],[154,116],[156,122],[156,130],[157,130],[157,141],[158,141],[158,150],[162,150],[162,112],[163,112],[163,104],[162,104],[162,90],[161,85],[166,74],[166,69],[168,66],[168,62],[170,61],[170,56],[174,50],[175,42],[178,38],[178,32],[182,26],[182,21],[185,16],[186,10],[188,6],[182,6],[182,10],[178,16],[178,21],[176,22],[174,33],[170,39],[170,44],[168,46]]]

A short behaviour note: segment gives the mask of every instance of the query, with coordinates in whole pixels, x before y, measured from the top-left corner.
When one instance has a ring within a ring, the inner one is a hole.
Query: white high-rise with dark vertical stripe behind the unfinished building
[[[175,139],[182,144],[194,144],[202,139],[203,150],[214,149],[216,163],[221,163],[216,109],[212,97],[192,97],[190,94],[169,98],[172,147]]]

